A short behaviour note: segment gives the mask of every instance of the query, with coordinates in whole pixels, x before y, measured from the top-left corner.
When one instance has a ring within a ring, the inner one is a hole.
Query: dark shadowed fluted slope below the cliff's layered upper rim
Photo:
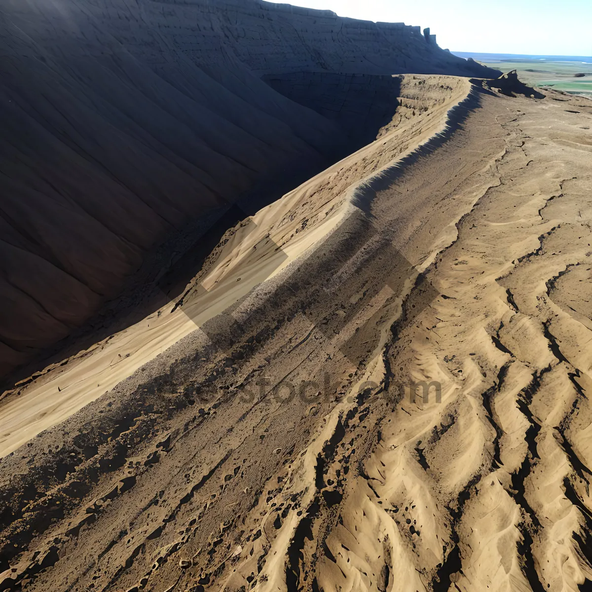
[[[2,61],[3,370],[117,294],[170,231],[346,142],[248,72],[229,88],[192,66],[175,86],[123,49],[72,62]]]

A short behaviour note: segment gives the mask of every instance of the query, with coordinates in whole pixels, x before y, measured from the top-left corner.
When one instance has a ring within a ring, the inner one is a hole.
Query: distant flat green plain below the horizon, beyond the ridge
[[[506,73],[517,70],[518,78],[531,86],[553,88],[556,91],[592,97],[592,64],[581,62],[551,62],[547,60],[507,59],[481,62]],[[574,74],[585,74],[575,77]]]

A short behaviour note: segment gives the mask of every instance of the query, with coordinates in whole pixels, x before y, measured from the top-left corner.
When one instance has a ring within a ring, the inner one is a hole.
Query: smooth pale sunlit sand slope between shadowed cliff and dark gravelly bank
[[[412,95],[419,80],[423,79],[407,77],[403,94]],[[438,82],[435,78],[428,92],[422,90],[422,101],[430,106],[429,112],[422,115],[423,107],[417,107],[414,116],[417,99],[404,98],[403,104],[413,103],[411,110],[402,107],[395,120],[407,114],[410,119],[403,120],[406,124],[383,130],[375,143],[231,230],[214,252],[210,265],[188,287],[182,307],[171,312],[175,301],[167,303],[140,323],[69,359],[67,365],[57,364],[49,374],[28,382],[24,388],[6,392],[0,417],[0,453],[12,452],[111,390],[193,332],[196,325],[202,326],[240,301],[266,278],[278,274],[321,242],[348,216],[350,202],[361,182],[392,166],[445,127],[448,109],[466,96],[468,82],[455,79],[454,86],[447,85],[446,89],[440,88]],[[51,413],[47,412],[48,406]]]

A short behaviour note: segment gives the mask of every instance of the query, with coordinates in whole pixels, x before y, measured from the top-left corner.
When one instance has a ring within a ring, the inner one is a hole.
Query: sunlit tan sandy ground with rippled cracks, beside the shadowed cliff
[[[401,76],[376,141],[7,391],[0,590],[590,585],[592,101],[545,95]]]

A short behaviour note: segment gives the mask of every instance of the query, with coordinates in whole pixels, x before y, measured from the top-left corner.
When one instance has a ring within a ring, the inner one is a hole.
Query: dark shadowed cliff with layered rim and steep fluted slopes
[[[371,139],[356,109],[379,127],[396,86],[369,75],[491,74],[419,27],[256,0],[1,11],[1,374],[81,326],[167,234]],[[294,83],[320,96],[326,75],[334,117]],[[357,94],[346,75],[366,76]]]

